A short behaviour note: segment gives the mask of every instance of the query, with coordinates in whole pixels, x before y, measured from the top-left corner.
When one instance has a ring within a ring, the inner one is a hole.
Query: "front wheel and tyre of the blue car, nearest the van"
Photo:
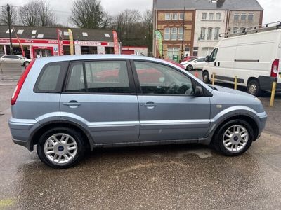
[[[254,130],[245,120],[231,120],[216,132],[212,144],[216,151],[226,156],[246,152],[254,140]]]

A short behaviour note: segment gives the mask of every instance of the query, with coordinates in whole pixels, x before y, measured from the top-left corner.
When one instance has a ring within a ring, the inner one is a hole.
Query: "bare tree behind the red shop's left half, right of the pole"
[[[43,0],[32,0],[20,8],[23,25],[50,27],[56,24],[55,14],[50,4]]]

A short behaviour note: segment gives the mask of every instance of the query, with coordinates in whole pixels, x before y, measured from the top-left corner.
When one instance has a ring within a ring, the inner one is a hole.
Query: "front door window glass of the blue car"
[[[192,80],[169,66],[134,62],[143,94],[194,94]]]

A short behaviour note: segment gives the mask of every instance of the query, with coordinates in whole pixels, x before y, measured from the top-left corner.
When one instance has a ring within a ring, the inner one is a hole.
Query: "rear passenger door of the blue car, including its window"
[[[138,99],[126,60],[72,62],[61,117],[83,124],[96,144],[138,141]]]

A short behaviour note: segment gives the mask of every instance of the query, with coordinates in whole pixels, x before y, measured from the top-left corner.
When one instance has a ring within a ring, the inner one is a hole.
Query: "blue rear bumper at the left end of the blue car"
[[[33,151],[33,144],[31,142],[31,136],[34,130],[41,127],[36,120],[23,120],[11,118],[8,121],[10,127],[12,140],[15,144],[24,146],[29,151]]]

